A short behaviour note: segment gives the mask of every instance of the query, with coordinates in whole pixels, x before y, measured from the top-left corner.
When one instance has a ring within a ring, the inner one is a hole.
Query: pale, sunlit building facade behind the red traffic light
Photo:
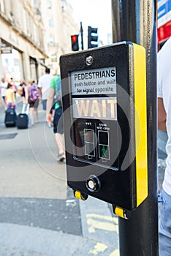
[[[49,56],[46,64],[50,69],[58,69],[61,54],[71,52],[71,35],[79,29],[72,16],[69,0],[42,1],[42,20],[45,26],[45,46]]]

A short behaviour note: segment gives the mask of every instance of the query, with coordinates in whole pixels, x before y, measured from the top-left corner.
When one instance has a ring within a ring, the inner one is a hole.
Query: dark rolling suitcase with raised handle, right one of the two
[[[23,105],[21,113],[17,116],[16,120],[16,127],[18,129],[27,129],[28,128],[28,112],[29,112],[29,104],[28,105]]]

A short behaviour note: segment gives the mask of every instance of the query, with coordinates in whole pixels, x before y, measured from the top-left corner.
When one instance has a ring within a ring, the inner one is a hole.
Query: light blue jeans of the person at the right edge
[[[159,256],[171,256],[171,196],[164,189],[159,203]]]

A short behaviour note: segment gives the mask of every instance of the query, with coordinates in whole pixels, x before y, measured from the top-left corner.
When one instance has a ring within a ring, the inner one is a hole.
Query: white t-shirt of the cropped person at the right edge
[[[163,188],[171,195],[171,37],[165,42],[157,56],[157,96],[163,98],[167,113],[167,167]]]

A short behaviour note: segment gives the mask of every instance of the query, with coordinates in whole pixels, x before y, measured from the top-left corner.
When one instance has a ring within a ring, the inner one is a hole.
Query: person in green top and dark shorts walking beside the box
[[[55,102],[53,105],[54,97],[58,98],[61,91],[60,75],[56,75],[50,83],[50,94],[47,99],[47,122],[53,124],[53,132],[55,135],[56,145],[58,147],[58,161],[65,162],[64,151],[64,125],[62,118],[61,103]],[[52,110],[53,109],[53,110]],[[54,112],[54,116],[53,116]]]

